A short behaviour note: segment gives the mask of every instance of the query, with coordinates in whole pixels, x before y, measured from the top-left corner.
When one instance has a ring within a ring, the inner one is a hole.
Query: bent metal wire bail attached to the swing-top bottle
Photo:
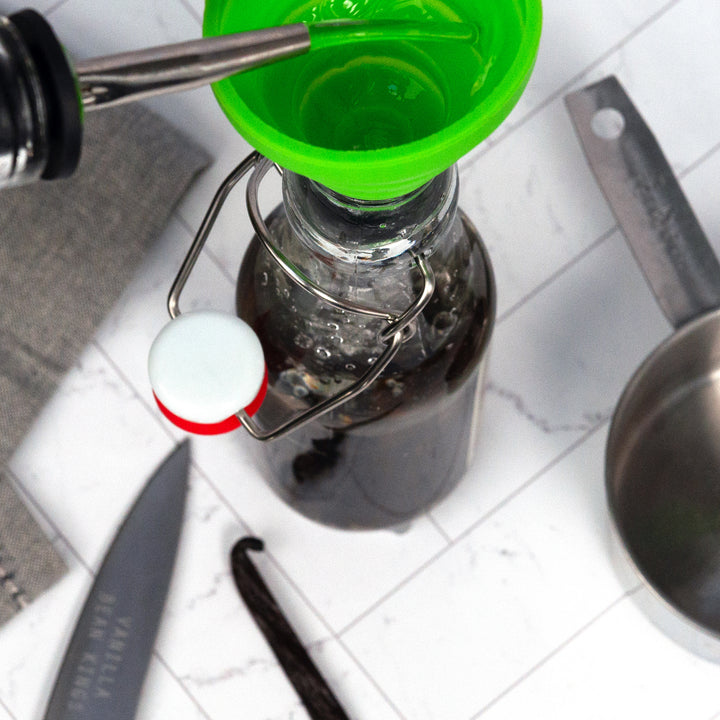
[[[265,223],[264,218],[260,213],[260,207],[258,204],[258,192],[260,183],[267,174],[271,167],[282,174],[282,168],[277,166],[271,160],[261,155],[259,152],[254,151],[248,155],[223,181],[215,193],[215,197],[210,203],[210,207],[205,213],[205,217],[200,225],[200,228],[195,235],[195,238],[190,246],[190,249],[183,260],[180,270],[178,271],[175,281],[170,288],[168,295],[167,307],[170,317],[172,319],[177,318],[180,312],[180,295],[185,287],[185,284],[192,273],[195,264],[200,257],[200,253],[205,246],[205,243],[210,236],[210,233],[215,225],[215,222],[222,210],[225,201],[228,196],[237,185],[237,183],[247,175],[250,170],[254,169],[253,174],[250,176],[247,188],[246,188],[246,203],[248,209],[248,215],[253,228],[263,244],[263,247],[267,250],[273,260],[280,266],[283,272],[295,283],[300,285],[303,289],[312,293],[316,297],[319,297],[324,302],[345,310],[347,312],[357,313],[359,315],[365,315],[375,318],[385,319],[388,326],[380,333],[379,339],[387,346],[383,352],[379,355],[377,360],[370,366],[368,370],[363,373],[354,383],[348,386],[345,390],[337,393],[336,395],[324,400],[321,403],[305,410],[299,415],[291,418],[287,422],[283,423],[279,427],[272,430],[263,430],[258,424],[244,411],[240,410],[236,417],[242,424],[242,426],[257,440],[274,440],[282,435],[285,435],[293,430],[297,430],[299,427],[311,422],[315,418],[324,415],[325,413],[334,410],[343,403],[351,400],[352,398],[359,395],[363,390],[369,387],[377,377],[383,372],[383,370],[389,365],[392,359],[397,354],[402,344],[408,327],[422,312],[423,308],[427,305],[433,292],[435,291],[435,277],[432,269],[427,264],[425,257],[422,254],[412,254],[413,260],[417,268],[423,277],[423,288],[420,294],[415,298],[411,305],[400,315],[393,315],[391,313],[369,308],[364,305],[360,305],[344,298],[337,297],[326,290],[321,288],[319,285],[314,283],[308,277],[306,277],[297,267],[295,267],[277,248],[273,245],[272,235],[270,230]]]

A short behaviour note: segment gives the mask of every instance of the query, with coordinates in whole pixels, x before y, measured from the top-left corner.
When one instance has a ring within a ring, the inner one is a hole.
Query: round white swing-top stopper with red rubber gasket
[[[257,409],[266,388],[265,359],[253,329],[214,310],[171,320],[150,348],[148,372],[165,415],[193,432],[214,432],[202,428],[226,423],[248,406]]]

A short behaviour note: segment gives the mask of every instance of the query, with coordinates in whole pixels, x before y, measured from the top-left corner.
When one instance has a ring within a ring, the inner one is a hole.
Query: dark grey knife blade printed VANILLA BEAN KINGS
[[[103,560],[70,640],[45,720],[132,720],[180,538],[185,440],[148,480]]]

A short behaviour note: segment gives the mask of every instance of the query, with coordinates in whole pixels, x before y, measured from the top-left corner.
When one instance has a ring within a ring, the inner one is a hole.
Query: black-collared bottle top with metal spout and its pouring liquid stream
[[[73,62],[39,13],[0,17],[0,72],[12,85],[0,98],[0,188],[71,175],[83,112],[189,90],[316,48],[476,36],[463,23],[301,22]]]

